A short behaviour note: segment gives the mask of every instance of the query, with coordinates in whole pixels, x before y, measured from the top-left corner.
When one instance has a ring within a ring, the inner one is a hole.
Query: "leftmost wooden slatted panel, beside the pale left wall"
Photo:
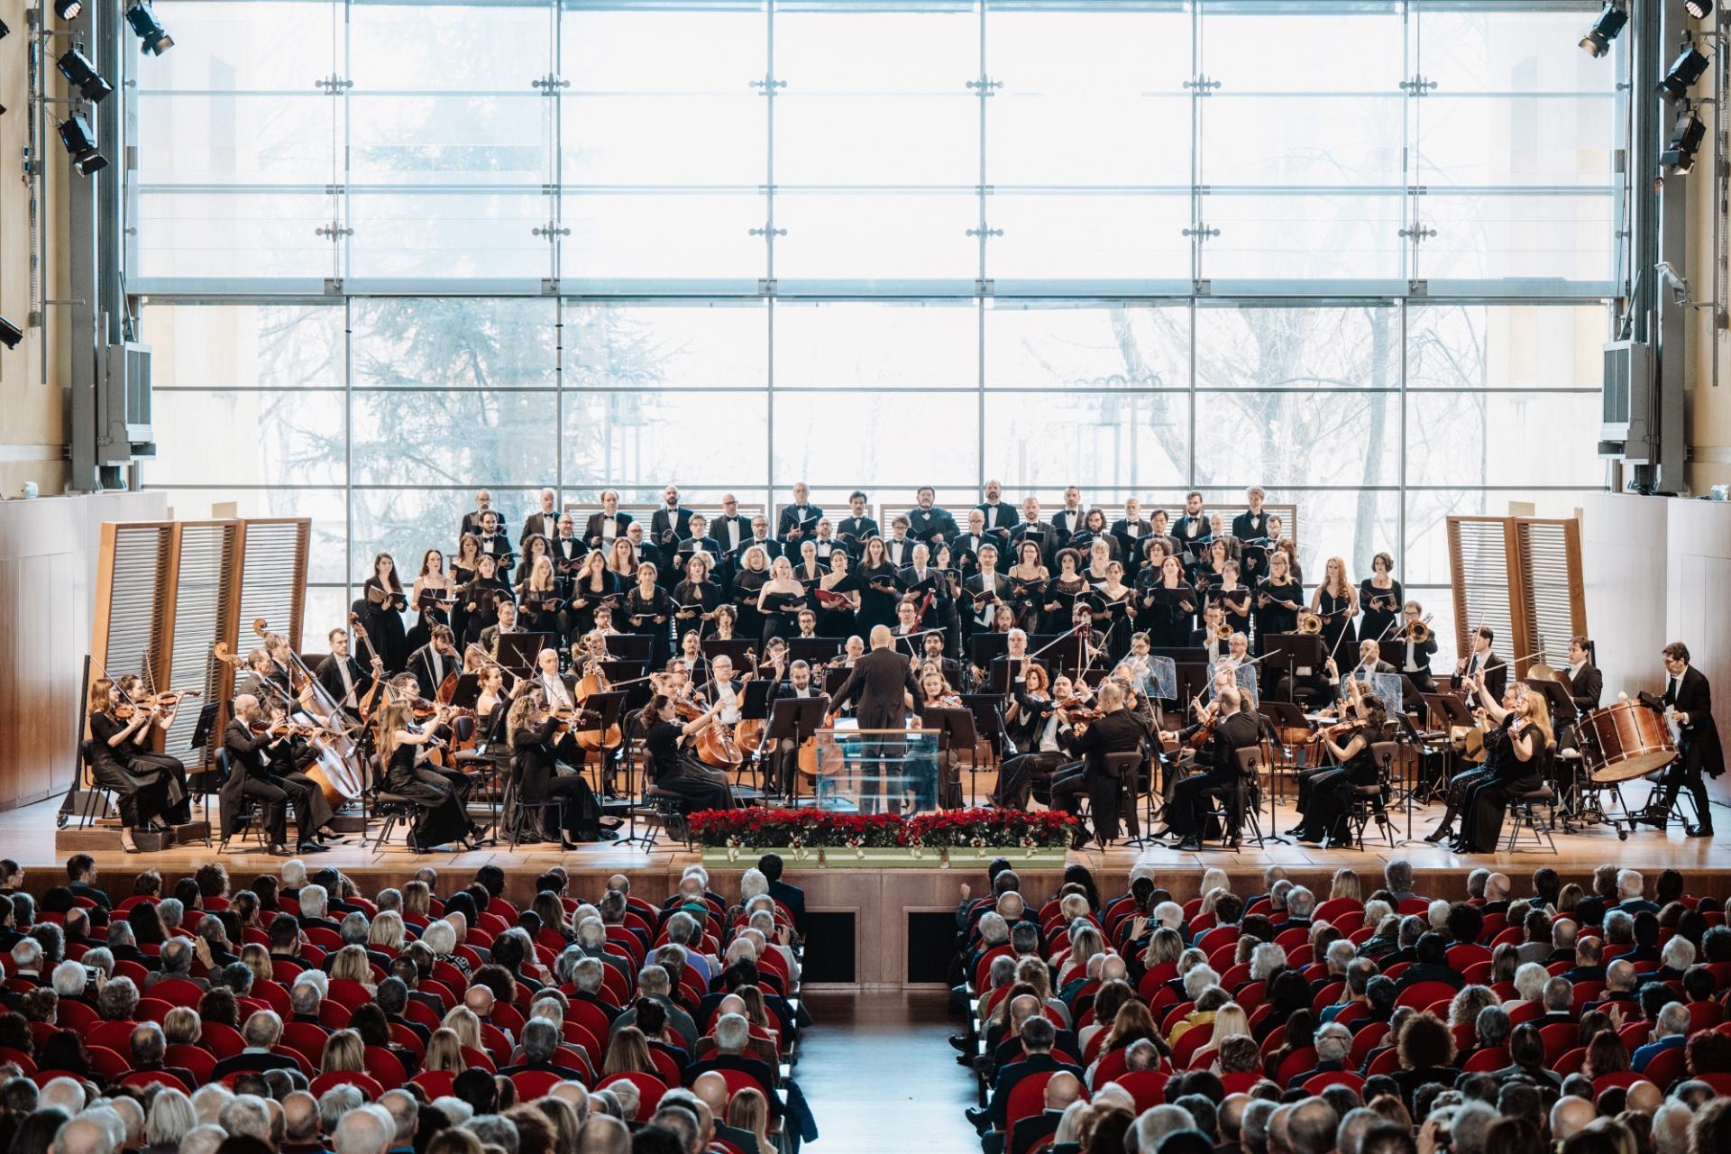
[[[107,523],[97,562],[97,612],[92,616],[92,676],[144,675],[145,661],[166,649],[164,606],[170,592],[173,524]],[[158,656],[161,661],[161,656]]]

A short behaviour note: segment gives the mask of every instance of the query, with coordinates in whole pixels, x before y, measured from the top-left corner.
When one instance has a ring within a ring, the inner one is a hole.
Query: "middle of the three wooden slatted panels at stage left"
[[[180,692],[197,690],[203,697],[187,701],[168,728],[168,753],[187,761],[189,768],[208,765],[222,728],[213,727],[203,749],[187,756],[199,711],[211,701],[234,692],[223,676],[222,663],[211,657],[211,645],[234,633],[234,543],[239,535],[235,521],[183,521],[175,526],[175,612],[173,644],[166,687]]]

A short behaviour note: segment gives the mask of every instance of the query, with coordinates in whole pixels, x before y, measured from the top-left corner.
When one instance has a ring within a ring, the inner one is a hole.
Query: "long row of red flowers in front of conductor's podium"
[[[1035,849],[1061,848],[1077,830],[1068,813],[1025,810],[942,810],[900,817],[897,813],[829,813],[824,810],[699,810],[691,815],[691,832],[703,846],[725,848],[729,860],[748,849],[791,848],[796,856],[810,849],[905,848],[923,849]]]

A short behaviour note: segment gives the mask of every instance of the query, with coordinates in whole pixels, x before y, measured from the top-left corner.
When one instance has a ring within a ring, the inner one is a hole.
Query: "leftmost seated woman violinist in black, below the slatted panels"
[[[121,683],[130,680],[135,678],[121,678]],[[121,820],[119,844],[126,853],[138,853],[138,829],[154,829],[158,817],[175,820],[189,805],[185,766],[151,751],[151,728],[168,728],[164,716],[173,715],[156,706],[132,704],[121,687],[106,676],[90,683],[87,761],[90,777],[114,794]],[[177,766],[180,773],[175,773]]]

